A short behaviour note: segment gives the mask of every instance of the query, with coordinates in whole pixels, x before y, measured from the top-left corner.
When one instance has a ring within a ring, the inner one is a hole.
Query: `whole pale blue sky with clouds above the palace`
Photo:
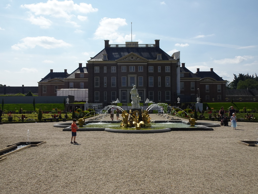
[[[0,84],[37,86],[110,44],[139,41],[224,80],[258,73],[257,0],[0,1]],[[132,35],[131,35],[132,22]]]

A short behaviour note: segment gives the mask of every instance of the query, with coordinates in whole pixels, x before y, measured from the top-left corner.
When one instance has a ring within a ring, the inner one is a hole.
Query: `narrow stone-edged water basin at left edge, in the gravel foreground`
[[[0,150],[0,161],[7,159],[6,156],[18,151],[21,151],[25,148],[32,146],[39,146],[40,144],[46,143],[46,141],[21,141],[15,144],[7,145],[6,148]]]

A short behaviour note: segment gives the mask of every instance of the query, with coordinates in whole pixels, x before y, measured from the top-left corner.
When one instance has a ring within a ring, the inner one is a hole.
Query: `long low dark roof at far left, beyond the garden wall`
[[[10,95],[10,94],[28,94],[31,91],[34,95],[38,95],[38,86],[6,86],[0,87],[0,94]]]

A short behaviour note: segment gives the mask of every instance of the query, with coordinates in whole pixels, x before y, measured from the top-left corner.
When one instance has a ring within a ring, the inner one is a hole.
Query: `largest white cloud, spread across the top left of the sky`
[[[21,5],[21,8],[28,9],[35,16],[50,16],[54,18],[64,18],[66,21],[71,20],[77,13],[87,14],[96,12],[98,9],[92,8],[91,4],[80,3],[76,4],[73,1],[57,1],[48,0],[46,3],[33,3]],[[73,14],[74,13],[74,14]],[[81,21],[85,21],[87,17],[78,16]]]

